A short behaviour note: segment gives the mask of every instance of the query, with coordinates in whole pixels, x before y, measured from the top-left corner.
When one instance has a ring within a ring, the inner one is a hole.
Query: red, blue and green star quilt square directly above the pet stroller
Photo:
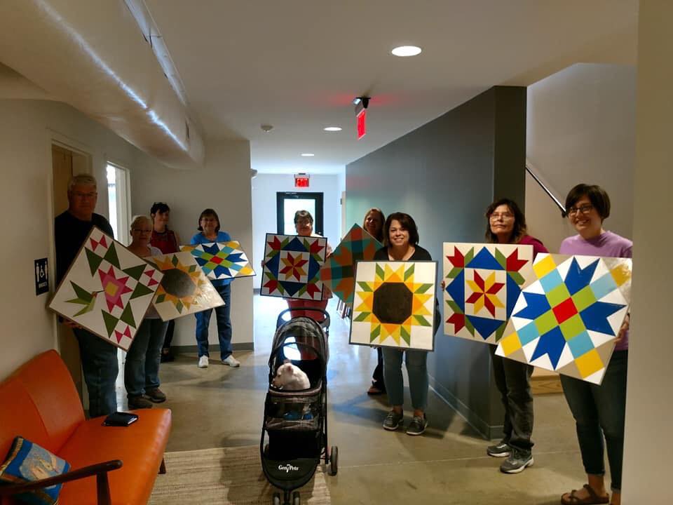
[[[261,295],[322,299],[327,238],[266,234]]]

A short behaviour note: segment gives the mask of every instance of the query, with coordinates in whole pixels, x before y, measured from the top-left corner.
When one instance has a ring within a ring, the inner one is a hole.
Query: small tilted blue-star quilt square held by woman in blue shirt
[[[199,267],[213,280],[254,276],[254,270],[238,241],[182,245]]]

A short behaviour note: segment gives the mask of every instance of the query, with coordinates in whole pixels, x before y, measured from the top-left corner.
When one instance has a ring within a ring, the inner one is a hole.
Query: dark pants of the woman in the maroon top
[[[489,345],[496,386],[505,407],[503,440],[515,449],[529,454],[533,447],[533,367],[502,356],[496,356],[496,346]]]

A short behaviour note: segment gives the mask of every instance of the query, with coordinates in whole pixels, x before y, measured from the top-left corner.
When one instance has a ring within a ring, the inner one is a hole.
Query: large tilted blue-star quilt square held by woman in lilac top
[[[631,300],[630,258],[538,254],[496,354],[600,384]]]

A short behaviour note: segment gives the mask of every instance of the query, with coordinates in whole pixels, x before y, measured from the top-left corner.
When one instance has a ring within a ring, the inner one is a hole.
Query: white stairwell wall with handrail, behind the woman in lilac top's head
[[[636,69],[628,65],[579,63],[528,88],[526,157],[532,167],[562,203],[580,182],[604,187],[612,201],[605,227],[627,237],[633,228],[635,107]],[[529,220],[557,215],[552,201],[533,193],[533,201],[526,196]],[[564,224],[552,226],[531,231],[552,245],[566,231]]]

